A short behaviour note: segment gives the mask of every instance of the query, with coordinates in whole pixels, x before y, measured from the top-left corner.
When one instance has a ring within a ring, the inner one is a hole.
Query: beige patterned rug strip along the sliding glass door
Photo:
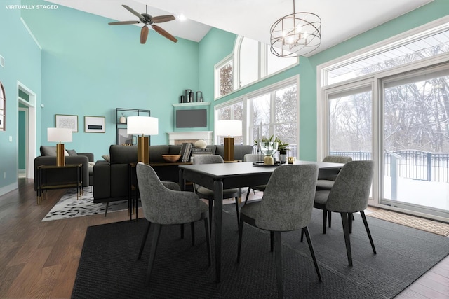
[[[424,230],[426,232],[433,232],[436,235],[449,236],[449,224],[441,223],[438,221],[431,221],[420,217],[415,217],[407,214],[396,213],[394,211],[388,211],[380,209],[373,213],[366,214],[366,216],[379,218],[385,221],[406,225],[410,228],[417,228],[418,230]]]

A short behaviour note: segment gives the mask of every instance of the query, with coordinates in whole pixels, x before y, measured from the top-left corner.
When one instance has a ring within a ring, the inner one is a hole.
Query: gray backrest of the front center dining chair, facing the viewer
[[[255,218],[257,227],[289,231],[307,226],[314,206],[317,178],[315,164],[283,165],[274,169]]]

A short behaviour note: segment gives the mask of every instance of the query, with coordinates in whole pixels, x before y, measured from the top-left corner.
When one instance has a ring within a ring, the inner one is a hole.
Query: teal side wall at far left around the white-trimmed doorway
[[[7,0],[0,5],[0,55],[5,58],[0,81],[6,93],[6,131],[0,132],[0,195],[18,185],[18,81],[33,90],[38,101],[41,95],[41,51],[20,20],[21,11],[8,9],[8,5],[20,4]],[[40,140],[39,131],[36,138]]]

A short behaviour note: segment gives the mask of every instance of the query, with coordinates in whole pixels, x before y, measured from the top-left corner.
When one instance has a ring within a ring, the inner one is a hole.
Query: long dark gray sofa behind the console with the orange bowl
[[[208,146],[213,153],[225,155],[224,146]],[[168,165],[163,154],[179,154],[180,145],[149,146],[149,163],[161,181],[179,181],[177,165]],[[243,160],[243,156],[252,153],[253,146],[235,146],[234,158]],[[109,161],[97,161],[93,167],[93,202],[113,202],[127,200],[130,186],[130,163],[137,162],[137,146],[109,147]]]

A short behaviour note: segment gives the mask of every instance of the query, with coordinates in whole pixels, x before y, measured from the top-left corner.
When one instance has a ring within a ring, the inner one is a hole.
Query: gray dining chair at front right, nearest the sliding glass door
[[[376,254],[364,212],[368,207],[371,181],[373,181],[373,168],[372,160],[347,162],[340,170],[332,189],[319,190],[315,193],[314,207],[337,212],[341,215],[349,266],[352,266],[349,234],[352,228],[353,213],[360,212],[373,253]]]

